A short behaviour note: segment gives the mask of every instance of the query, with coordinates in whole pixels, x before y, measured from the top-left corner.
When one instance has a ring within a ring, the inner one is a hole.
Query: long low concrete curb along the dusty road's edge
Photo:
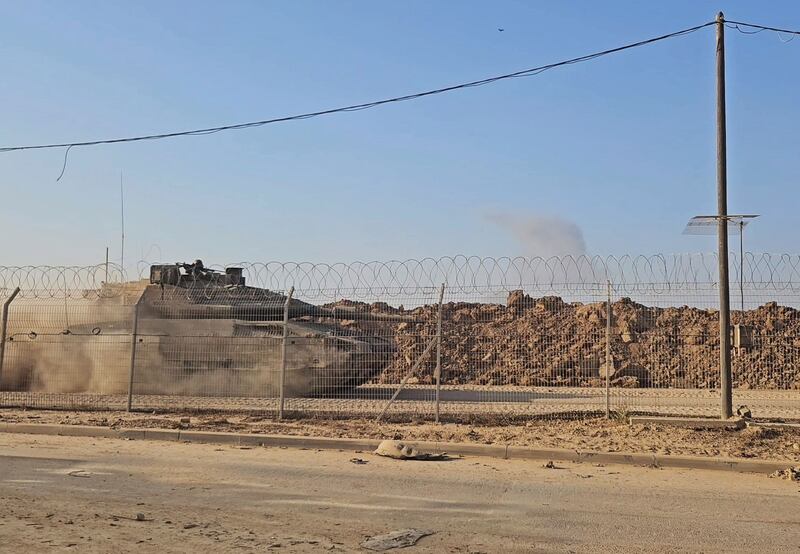
[[[89,425],[37,423],[0,423],[2,433],[93,437],[127,440],[158,440],[236,446],[271,446],[320,450],[362,450],[377,448],[377,439],[340,439],[294,435],[257,435],[178,429],[111,429]],[[648,467],[705,469],[739,473],[773,473],[795,465],[791,461],[747,460],[736,458],[703,458],[699,456],[665,456],[623,452],[593,452],[556,448],[534,448],[496,444],[409,441],[422,451],[447,452],[458,456],[480,456],[504,460],[541,460],[576,463],[623,464]]]

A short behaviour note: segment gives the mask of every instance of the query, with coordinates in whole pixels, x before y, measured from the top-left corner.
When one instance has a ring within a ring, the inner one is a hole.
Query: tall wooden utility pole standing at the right
[[[731,295],[728,279],[728,160],[725,131],[725,16],[717,14],[717,247],[719,256],[719,373],[722,419],[733,415]]]

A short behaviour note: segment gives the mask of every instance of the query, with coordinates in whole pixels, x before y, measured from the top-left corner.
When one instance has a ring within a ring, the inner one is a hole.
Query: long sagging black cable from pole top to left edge
[[[689,33],[693,33],[704,27],[709,27],[711,25],[715,25],[715,21],[709,21],[708,23],[703,23],[702,25],[696,25],[694,27],[689,27],[687,29],[682,29],[680,31],[675,31],[673,33],[668,33],[666,35],[661,35],[654,38],[649,38],[646,40],[641,40],[639,42],[633,42],[630,44],[626,44],[624,46],[618,46],[616,48],[611,48],[608,50],[602,50],[600,52],[594,52],[592,54],[586,54],[584,56],[579,56],[577,58],[571,58],[568,60],[563,60],[560,62],[555,62],[547,65],[542,65],[539,67],[533,67],[530,69],[523,69],[521,71],[515,71],[514,73],[506,73],[504,75],[496,75],[494,77],[487,77],[485,79],[480,79],[477,81],[469,81],[466,83],[460,83],[457,85],[452,85],[448,87],[427,90],[424,92],[417,92],[414,94],[407,94],[404,96],[396,96],[393,98],[386,98],[383,100],[375,100],[372,102],[366,102],[363,104],[353,104],[350,106],[343,106],[339,108],[331,108],[328,110],[319,110],[315,112],[309,112],[304,114],[298,115],[290,115],[285,117],[277,117],[273,119],[264,119],[261,121],[250,121],[246,123],[237,123],[234,125],[223,125],[220,127],[209,127],[206,129],[194,129],[190,131],[176,131],[176,132],[169,132],[169,133],[161,133],[161,134],[153,134],[153,135],[141,135],[141,136],[134,136],[134,137],[125,137],[125,138],[116,138],[116,139],[105,139],[105,140],[90,140],[84,142],[64,142],[64,143],[53,143],[53,144],[35,144],[35,145],[28,145],[28,146],[7,146],[0,148],[0,153],[6,152],[16,152],[20,150],[43,150],[49,148],[72,148],[77,146],[97,146],[100,144],[117,144],[121,142],[138,142],[144,140],[160,140],[166,138],[174,138],[174,137],[183,137],[183,136],[196,136],[196,135],[210,135],[213,133],[219,133],[220,131],[235,131],[240,129],[249,129],[253,127],[261,127],[263,125],[270,125],[273,123],[283,123],[287,121],[297,121],[301,119],[310,119],[313,117],[320,117],[323,115],[331,115],[335,113],[341,112],[354,112],[360,110],[367,110],[370,108],[375,108],[377,106],[383,106],[385,104],[392,104],[396,102],[405,102],[408,100],[416,100],[418,98],[424,98],[426,96],[433,96],[436,94],[443,94],[446,92],[452,92],[455,90],[465,89],[465,88],[472,88],[472,87],[480,87],[484,85],[488,85],[491,83],[496,83],[498,81],[503,81],[506,79],[513,79],[518,77],[530,77],[533,75],[538,75],[543,73],[544,71],[548,71],[550,69],[555,69],[557,67],[562,67],[565,65],[572,65],[576,63],[587,62],[590,60],[594,60],[600,58],[602,56],[608,56],[610,54],[616,54],[617,52],[622,52],[624,50],[630,50],[631,48],[638,48],[640,46],[645,46],[648,44],[653,44],[655,42],[660,42],[662,40],[667,40],[670,38],[679,37],[682,35],[686,35]],[[65,157],[66,163],[66,157]],[[63,174],[63,172],[62,172]]]

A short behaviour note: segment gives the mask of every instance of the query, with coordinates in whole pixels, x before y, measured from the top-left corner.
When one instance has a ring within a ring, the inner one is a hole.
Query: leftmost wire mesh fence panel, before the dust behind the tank
[[[8,310],[0,402],[124,407],[131,308],[124,298],[17,298]]]

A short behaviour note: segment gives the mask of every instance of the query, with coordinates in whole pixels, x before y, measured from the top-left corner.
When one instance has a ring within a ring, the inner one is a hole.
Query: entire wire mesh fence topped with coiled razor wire
[[[800,418],[800,258],[741,267],[734,406]],[[0,268],[0,405],[717,416],[715,268],[703,254]]]

